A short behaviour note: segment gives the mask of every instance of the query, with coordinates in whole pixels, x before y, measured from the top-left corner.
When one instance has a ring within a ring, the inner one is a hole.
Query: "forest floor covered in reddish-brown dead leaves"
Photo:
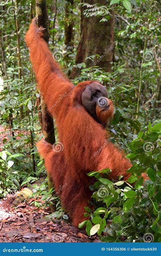
[[[7,133],[0,126],[0,146]],[[101,242],[98,237],[86,235],[70,223],[49,218],[49,207],[38,208],[28,198],[14,206],[15,195],[8,194],[0,200],[0,242]],[[33,204],[31,204],[33,203]]]

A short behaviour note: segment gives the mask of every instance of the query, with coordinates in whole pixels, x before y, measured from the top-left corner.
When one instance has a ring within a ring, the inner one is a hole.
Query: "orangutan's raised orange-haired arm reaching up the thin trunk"
[[[69,101],[74,85],[61,72],[42,35],[43,28],[38,28],[34,18],[26,33],[25,41],[30,49],[30,59],[40,92],[48,106],[48,111],[56,117],[64,101]]]

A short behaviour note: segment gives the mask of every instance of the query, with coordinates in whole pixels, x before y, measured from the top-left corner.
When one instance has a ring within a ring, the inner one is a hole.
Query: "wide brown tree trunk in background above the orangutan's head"
[[[83,0],[82,2],[85,3]],[[114,12],[110,13],[111,17],[108,21],[100,22],[100,20],[108,14],[106,0],[90,0],[88,4],[104,5],[100,9],[98,16],[85,17],[83,14],[87,6],[81,8],[81,39],[78,45],[78,52],[75,63],[85,62],[87,67],[99,66],[105,71],[111,71],[110,62],[114,59]],[[105,14],[105,15],[104,15]],[[85,60],[91,55],[100,55],[94,61],[91,59]],[[71,78],[79,74],[79,71],[74,69]]]

